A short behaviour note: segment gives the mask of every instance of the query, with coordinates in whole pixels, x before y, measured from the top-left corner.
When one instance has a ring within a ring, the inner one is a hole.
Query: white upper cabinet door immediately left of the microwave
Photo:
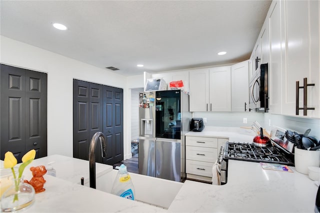
[[[231,111],[248,111],[249,60],[231,66]]]

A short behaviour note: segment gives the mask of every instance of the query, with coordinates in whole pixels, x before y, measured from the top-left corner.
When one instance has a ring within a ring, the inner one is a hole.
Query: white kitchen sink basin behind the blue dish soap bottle
[[[96,189],[111,192],[118,170],[96,177]],[[135,200],[167,209],[183,183],[129,172],[134,185]],[[86,183],[85,185],[88,185]]]

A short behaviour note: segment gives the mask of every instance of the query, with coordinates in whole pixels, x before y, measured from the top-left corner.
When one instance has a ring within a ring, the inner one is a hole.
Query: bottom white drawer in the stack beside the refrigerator
[[[185,171],[189,174],[212,177],[213,163],[196,160],[185,160]]]

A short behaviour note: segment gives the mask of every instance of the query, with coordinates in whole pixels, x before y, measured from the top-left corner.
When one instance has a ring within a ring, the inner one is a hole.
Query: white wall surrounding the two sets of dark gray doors
[[[127,145],[130,143],[130,119],[127,117],[131,112],[127,107],[125,76],[4,36],[0,37],[0,44],[1,63],[47,73],[48,155],[72,156],[73,78],[123,88],[124,158],[131,154]],[[141,82],[143,85],[143,77]]]

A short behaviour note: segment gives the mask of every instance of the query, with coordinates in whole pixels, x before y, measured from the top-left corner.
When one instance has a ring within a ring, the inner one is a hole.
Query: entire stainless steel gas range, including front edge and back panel
[[[271,144],[268,146],[256,146],[253,143],[226,142],[226,144],[221,147],[218,156],[218,163],[221,164],[221,184],[227,182],[228,160],[269,162],[293,166],[294,154],[285,149],[286,146],[282,140],[284,133],[279,133],[278,130],[275,130],[275,132],[271,131],[271,135],[273,136],[271,137]]]

